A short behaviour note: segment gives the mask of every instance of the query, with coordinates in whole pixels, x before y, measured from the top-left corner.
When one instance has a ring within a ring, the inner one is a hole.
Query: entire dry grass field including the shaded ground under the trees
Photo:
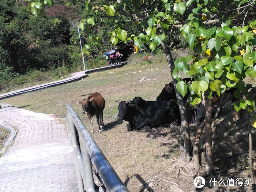
[[[186,54],[184,50],[179,53]],[[182,159],[178,158],[179,127],[128,132],[127,122],[116,120],[118,103],[115,100],[127,101],[140,96],[145,100],[154,101],[163,86],[171,81],[164,54],[153,56],[151,65],[142,65],[144,56],[144,54],[132,55],[128,59],[128,65],[122,68],[89,74],[89,77],[78,82],[18,95],[3,99],[1,102],[35,112],[53,113],[59,117],[65,117],[65,104],[69,102],[90,131],[88,118],[82,114],[82,107],[76,102],[97,91],[106,100],[103,121],[109,130],[101,134],[95,132],[92,136],[129,191],[143,191],[148,185],[151,185],[149,189],[154,191],[171,191],[172,185],[178,186],[185,192],[195,191],[194,177],[190,172],[193,161],[185,165]],[[140,82],[139,80],[144,76],[150,80]],[[227,124],[231,119],[228,115],[231,107],[227,106],[226,110],[223,110],[214,130],[213,153],[218,174],[209,176],[206,180],[213,177],[217,180],[249,178],[246,169],[248,141],[244,139],[248,135],[246,119],[241,116],[240,120]],[[93,117],[93,125],[96,131],[98,128],[95,117]],[[190,128],[193,136],[195,127],[190,125]],[[204,132],[202,135],[204,136]],[[253,131],[252,135],[255,141],[256,131]],[[254,142],[254,149],[255,145]],[[202,151],[204,158],[204,147]],[[225,188],[215,187],[204,191],[223,191],[223,189]],[[249,191],[248,187],[228,189]]]

